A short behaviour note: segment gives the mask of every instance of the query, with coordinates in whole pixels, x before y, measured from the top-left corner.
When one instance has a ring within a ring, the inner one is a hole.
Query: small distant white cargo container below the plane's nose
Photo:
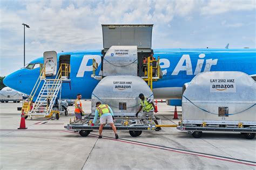
[[[19,93],[18,91],[11,89],[9,87],[4,87],[0,91],[0,101],[1,103],[8,103],[10,101],[16,103],[22,101],[22,93]]]

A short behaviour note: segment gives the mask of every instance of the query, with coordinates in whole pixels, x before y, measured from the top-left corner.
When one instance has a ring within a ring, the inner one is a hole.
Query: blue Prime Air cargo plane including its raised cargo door
[[[155,58],[159,56],[163,77],[153,82],[154,98],[168,99],[171,101],[170,105],[181,106],[184,87],[201,72],[240,71],[251,75],[255,80],[255,48],[151,49],[152,26],[150,24],[102,25],[104,50],[109,49],[112,45],[131,45],[130,40],[132,40],[132,45],[137,45],[138,50],[144,49],[142,47],[144,46],[147,47],[149,55],[152,51]],[[129,39],[122,41],[122,37],[118,37],[120,32],[122,32],[123,37],[126,34]],[[132,36],[134,36],[133,39]],[[58,70],[57,67],[63,61],[71,66],[70,81],[62,84],[61,97],[63,99],[75,99],[77,94],[82,94],[84,99],[91,99],[92,91],[99,82],[99,80],[91,77],[93,59],[97,61],[98,68],[101,68],[104,50],[60,52],[57,54],[57,58],[53,62],[56,67],[54,67],[55,71]],[[4,84],[24,94],[30,94],[40,74],[40,63],[44,63],[43,57],[31,61],[26,67],[6,76],[3,80]],[[96,75],[99,74],[100,69],[97,69]],[[48,77],[49,79],[55,78],[54,76]]]

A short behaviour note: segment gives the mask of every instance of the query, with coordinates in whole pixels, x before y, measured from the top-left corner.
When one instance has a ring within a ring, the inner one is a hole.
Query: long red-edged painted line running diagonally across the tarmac
[[[69,130],[63,130],[63,131],[64,132],[71,132]],[[71,132],[71,133],[74,133],[74,132]],[[92,134],[91,133],[89,135],[93,136],[93,137],[98,137],[97,134]],[[220,156],[220,155],[213,155],[213,154],[207,154],[207,153],[201,153],[201,152],[181,150],[181,149],[178,149],[178,148],[161,146],[161,145],[154,145],[154,144],[143,143],[143,142],[140,142],[140,141],[133,141],[133,140],[127,140],[127,139],[114,139],[114,138],[106,137],[106,136],[103,136],[103,139],[109,139],[109,140],[120,141],[120,142],[128,143],[128,144],[134,144],[134,145],[158,148],[158,149],[161,149],[161,150],[166,150],[166,151],[171,151],[171,152],[196,155],[196,156],[204,157],[204,158],[210,158],[210,159],[217,159],[217,160],[223,160],[223,161],[228,161],[228,162],[234,162],[234,163],[237,163],[237,164],[256,166],[256,162],[249,161],[249,160],[235,159],[235,158],[231,158],[231,157],[223,157],[223,156]]]

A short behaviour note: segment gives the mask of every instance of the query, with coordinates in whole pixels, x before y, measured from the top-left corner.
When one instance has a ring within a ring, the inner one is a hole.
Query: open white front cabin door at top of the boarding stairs
[[[56,51],[44,52],[45,76],[55,76],[57,73],[57,53]]]

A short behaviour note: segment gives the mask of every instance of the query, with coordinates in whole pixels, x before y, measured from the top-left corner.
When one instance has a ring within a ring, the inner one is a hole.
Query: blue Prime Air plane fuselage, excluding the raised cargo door
[[[207,71],[240,71],[252,77],[256,75],[256,49],[154,49],[154,56],[160,57],[163,78],[153,82],[154,98],[181,99],[183,86],[194,76]],[[99,80],[93,79],[92,59],[101,65],[100,50],[63,52],[70,55],[70,83],[63,83],[62,98],[75,99],[82,94],[90,100]],[[31,61],[26,67],[6,76],[4,84],[12,89],[30,94],[39,76],[39,63],[43,57]],[[99,69],[96,75],[99,74]],[[198,91],[200,93],[200,91]]]

